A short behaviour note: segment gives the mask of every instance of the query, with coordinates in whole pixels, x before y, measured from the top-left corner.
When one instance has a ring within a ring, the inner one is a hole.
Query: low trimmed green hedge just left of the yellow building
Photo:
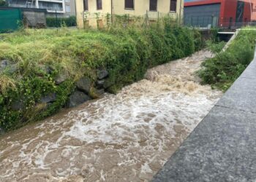
[[[77,20],[75,16],[70,17],[46,17],[46,25],[48,27],[76,26]]]

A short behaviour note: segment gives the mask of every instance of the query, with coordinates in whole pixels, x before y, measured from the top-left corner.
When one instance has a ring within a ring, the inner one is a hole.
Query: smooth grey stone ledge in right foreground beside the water
[[[256,181],[256,58],[152,181]]]

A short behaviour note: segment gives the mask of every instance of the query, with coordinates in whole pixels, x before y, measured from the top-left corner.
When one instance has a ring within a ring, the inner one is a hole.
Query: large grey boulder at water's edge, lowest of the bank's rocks
[[[72,108],[85,103],[86,101],[91,100],[91,98],[83,92],[75,91],[72,95],[69,96],[69,101],[67,107]]]

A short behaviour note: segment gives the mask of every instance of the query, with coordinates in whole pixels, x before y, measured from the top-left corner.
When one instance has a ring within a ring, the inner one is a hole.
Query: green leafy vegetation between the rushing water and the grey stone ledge
[[[204,84],[211,84],[223,91],[227,90],[252,61],[255,52],[256,30],[241,30],[225,52],[219,52],[203,63],[199,76]],[[220,45],[222,47],[222,45]]]

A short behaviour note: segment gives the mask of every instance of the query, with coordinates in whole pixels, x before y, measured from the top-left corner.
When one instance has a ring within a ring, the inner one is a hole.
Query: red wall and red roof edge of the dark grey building
[[[254,0],[252,0],[253,2]],[[220,4],[219,9],[219,27],[244,25],[251,21],[253,3],[249,0],[202,0],[184,3],[184,8],[200,6],[202,9],[205,5]],[[185,15],[186,16],[186,15]]]

